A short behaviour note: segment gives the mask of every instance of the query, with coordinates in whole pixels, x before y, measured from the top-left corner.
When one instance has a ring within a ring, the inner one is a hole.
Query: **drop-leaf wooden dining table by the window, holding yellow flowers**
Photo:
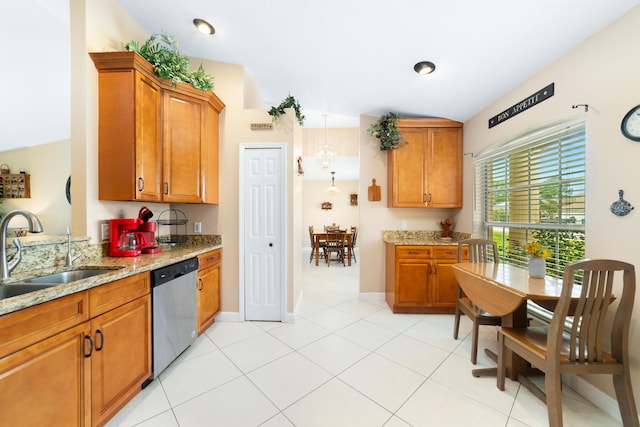
[[[562,292],[562,278],[549,275],[544,278],[529,277],[526,268],[511,264],[458,263],[451,267],[467,297],[482,310],[500,316],[504,327],[527,327],[528,301],[553,311]],[[580,291],[574,288],[573,292],[577,300]],[[490,351],[485,351],[492,356]],[[530,372],[527,362],[520,356],[508,349],[506,356],[509,378],[518,380],[519,376]],[[495,375],[496,372],[496,368],[472,371],[474,376]]]

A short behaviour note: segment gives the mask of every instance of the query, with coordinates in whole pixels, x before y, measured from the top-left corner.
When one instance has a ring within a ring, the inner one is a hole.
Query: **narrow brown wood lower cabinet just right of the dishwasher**
[[[198,256],[198,335],[215,321],[220,311],[220,263],[222,249]]]

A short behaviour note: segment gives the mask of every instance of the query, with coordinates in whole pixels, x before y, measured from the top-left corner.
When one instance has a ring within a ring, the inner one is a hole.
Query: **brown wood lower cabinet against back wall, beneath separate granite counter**
[[[387,304],[394,313],[453,313],[458,282],[451,264],[456,262],[457,246],[386,243]]]

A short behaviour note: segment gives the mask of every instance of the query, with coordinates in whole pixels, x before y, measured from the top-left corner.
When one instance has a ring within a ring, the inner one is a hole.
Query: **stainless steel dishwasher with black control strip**
[[[153,377],[198,336],[198,258],[151,272]]]

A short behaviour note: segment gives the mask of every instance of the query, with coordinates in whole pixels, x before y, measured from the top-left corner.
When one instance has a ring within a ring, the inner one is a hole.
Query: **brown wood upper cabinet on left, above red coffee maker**
[[[135,52],[89,55],[98,70],[99,199],[218,203],[224,103],[155,76]]]

